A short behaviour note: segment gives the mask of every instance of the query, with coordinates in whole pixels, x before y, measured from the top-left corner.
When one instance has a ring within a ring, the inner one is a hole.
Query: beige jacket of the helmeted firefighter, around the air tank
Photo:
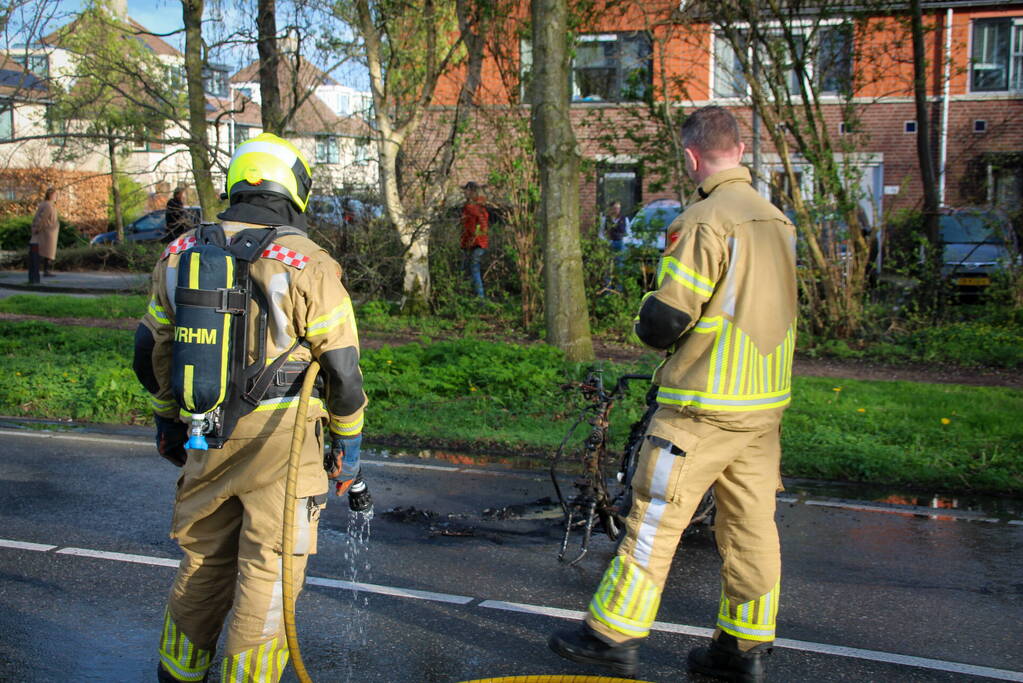
[[[224,222],[228,237],[246,228],[262,225]],[[151,395],[153,411],[164,417],[179,415],[171,389],[171,362],[174,337],[174,292],[180,253],[194,241],[189,230],[171,242],[152,272],[149,306],[142,324],[152,333],[152,373],[159,391]],[[328,416],[330,431],[355,437],[362,431],[366,397],[358,367],[359,338],[352,299],[341,283],[341,267],[326,252],[302,234],[275,238],[268,254],[256,260],[250,274],[260,283],[269,300],[266,333],[266,357],[270,362],[285,353],[297,338],[305,339],[288,357],[290,361],[317,359],[326,379],[326,396],[310,403],[310,416]],[[256,358],[257,324],[255,302],[251,305],[251,348],[249,363]],[[231,439],[265,438],[278,430],[290,430],[298,397],[266,399],[242,417]]]

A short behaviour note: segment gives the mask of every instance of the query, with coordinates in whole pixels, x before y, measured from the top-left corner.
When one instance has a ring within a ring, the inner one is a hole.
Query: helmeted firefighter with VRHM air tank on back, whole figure
[[[353,511],[371,506],[359,473],[366,397],[352,300],[341,267],[306,235],[311,186],[309,166],[290,142],[264,133],[242,143],[228,169],[230,206],[219,226],[175,239],[152,273],[134,369],[150,394],[160,454],[181,467],[171,537],[184,551],[164,617],[161,681],[206,680],[229,612],[222,681],[277,681],[286,666],[281,517],[299,393],[312,360],[321,371],[299,467],[296,591],[316,552],[328,477]],[[223,287],[203,281],[217,274],[218,254],[227,255],[221,261],[233,278]],[[195,333],[182,321],[199,314],[230,324]],[[243,353],[224,347],[228,337],[246,339]],[[206,413],[186,408],[204,391],[199,377],[210,364],[220,368],[222,402]]]

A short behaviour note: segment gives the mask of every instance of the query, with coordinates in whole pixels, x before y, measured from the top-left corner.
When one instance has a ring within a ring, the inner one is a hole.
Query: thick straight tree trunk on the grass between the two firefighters
[[[579,150],[569,120],[566,0],[532,0],[533,86],[530,97],[540,172],[544,231],[544,322],[547,343],[570,361],[593,359],[579,245]]]

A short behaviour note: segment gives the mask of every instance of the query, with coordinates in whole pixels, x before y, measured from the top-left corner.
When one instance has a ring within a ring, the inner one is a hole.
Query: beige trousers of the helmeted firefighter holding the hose
[[[321,428],[310,421],[294,519],[296,595],[308,556],[316,552],[326,499],[320,437]],[[177,680],[204,680],[228,612],[220,680],[275,683],[283,673],[288,651],[282,518],[291,441],[290,429],[278,429],[267,437],[232,439],[219,450],[188,452],[172,533],[184,557],[171,589],[160,647],[161,665]],[[319,491],[311,492],[310,487]]]

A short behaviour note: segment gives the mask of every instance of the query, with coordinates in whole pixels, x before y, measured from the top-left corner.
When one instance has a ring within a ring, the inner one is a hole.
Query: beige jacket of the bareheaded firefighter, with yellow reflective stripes
[[[658,368],[657,400],[728,428],[776,421],[791,396],[796,232],[736,168],[668,228],[651,294],[688,317]]]

